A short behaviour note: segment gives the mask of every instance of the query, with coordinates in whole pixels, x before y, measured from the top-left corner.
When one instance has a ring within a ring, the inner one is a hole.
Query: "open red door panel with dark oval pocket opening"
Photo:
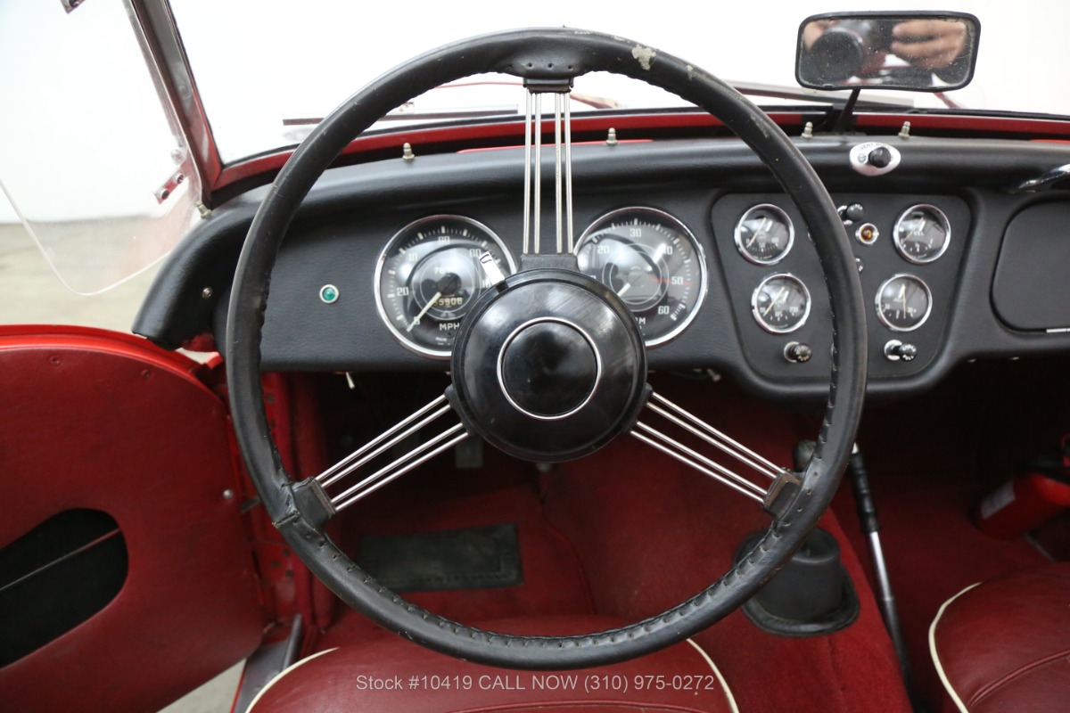
[[[259,644],[226,405],[199,369],[123,335],[0,329],[0,553],[91,510],[127,555],[114,599],[0,668],[4,710],[155,711]]]

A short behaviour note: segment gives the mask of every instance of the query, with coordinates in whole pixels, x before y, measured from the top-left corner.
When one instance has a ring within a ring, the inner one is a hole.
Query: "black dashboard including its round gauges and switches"
[[[796,143],[841,207],[858,263],[868,308],[869,391],[923,389],[968,359],[1070,351],[1070,280],[1060,279],[1059,267],[1070,245],[1064,228],[1070,201],[1059,190],[1014,190],[1068,162],[1066,149],[889,137],[881,141],[897,152],[897,165],[868,175],[852,168],[852,150],[866,140]],[[407,344],[414,315],[401,314],[408,309],[401,303],[391,308],[398,324],[388,326],[391,309],[377,301],[384,247],[392,238],[399,245],[399,231],[414,221],[460,217],[486,228],[518,259],[522,160],[519,150],[505,149],[411,161],[399,156],[328,171],[278,257],[264,368],[445,370],[447,361]],[[574,175],[576,238],[608,224],[613,212],[638,211],[686,229],[696,259],[704,261],[701,274],[655,269],[651,278],[655,296],[668,294],[658,293],[658,284],[703,282],[701,292],[689,288],[675,301],[658,297],[666,317],[678,316],[686,326],[656,340],[651,369],[709,368],[781,398],[827,392],[832,323],[816,253],[796,206],[747,146],[734,139],[578,145]],[[160,272],[136,332],[168,347],[208,334],[223,343],[230,279],[262,196],[263,189],[245,193],[202,221]],[[554,219],[552,204],[544,205],[544,246],[553,241]],[[1005,234],[1011,236],[1006,246]],[[594,245],[588,248],[595,260]],[[660,246],[655,258],[664,251]],[[600,274],[612,281],[611,272],[623,274],[620,266]],[[638,284],[623,288],[625,282],[611,288],[621,294]],[[389,294],[408,294],[409,283],[398,284]],[[630,297],[638,305],[639,289]],[[416,310],[419,303],[412,305]],[[428,307],[417,322],[431,316]],[[657,307],[646,307],[653,320]],[[456,324],[445,314],[435,327],[443,331]],[[643,321],[640,312],[637,317]]]

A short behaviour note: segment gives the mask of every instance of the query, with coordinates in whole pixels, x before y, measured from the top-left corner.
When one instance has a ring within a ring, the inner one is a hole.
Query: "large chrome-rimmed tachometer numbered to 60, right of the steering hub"
[[[691,231],[648,207],[613,211],[583,231],[576,246],[580,272],[624,300],[646,346],[678,335],[706,293],[706,261]]]

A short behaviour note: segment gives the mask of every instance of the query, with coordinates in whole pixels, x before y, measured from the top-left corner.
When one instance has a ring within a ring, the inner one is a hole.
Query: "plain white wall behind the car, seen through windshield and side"
[[[282,115],[325,112],[383,69],[484,31],[597,29],[664,48],[729,80],[793,86],[800,20],[858,5],[766,0],[708,3],[696,12],[693,2],[648,0],[570,0],[557,7],[469,0],[430,11],[347,0],[173,4],[230,158],[275,141]],[[960,103],[1070,114],[1070,3],[888,0],[877,7],[963,10],[980,18],[975,84],[956,95]],[[0,180],[24,212],[62,219],[122,213],[165,177],[167,149],[149,159],[143,146],[166,146],[166,125],[147,106],[151,86],[124,22],[118,0],[88,0],[70,16],[59,0],[0,2]],[[595,93],[633,91],[608,84]],[[141,148],[125,150],[131,140]],[[78,168],[63,166],[70,158]],[[0,198],[0,221],[13,219]]]

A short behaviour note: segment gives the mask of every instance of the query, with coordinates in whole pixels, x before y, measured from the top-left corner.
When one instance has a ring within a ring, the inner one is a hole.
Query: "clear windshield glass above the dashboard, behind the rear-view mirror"
[[[483,32],[532,26],[598,30],[672,52],[715,75],[742,83],[798,91],[795,48],[808,16],[842,10],[827,0],[693,5],[574,0],[520,5],[472,0],[440,5],[433,13],[397,12],[389,3],[239,2],[172,0],[198,89],[225,161],[297,143],[317,118],[386,69],[430,48]],[[1043,17],[995,1],[847,3],[857,10],[954,10],[981,22],[974,82],[947,92],[953,106],[1070,114],[1070,62],[1061,34],[1070,5],[1048,5]],[[255,7],[255,10],[254,10]],[[447,10],[448,7],[448,10]],[[1049,41],[1044,41],[1044,36]],[[1043,77],[1043,87],[1029,81]],[[392,118],[419,120],[522,111],[517,80],[477,77],[415,98]],[[683,106],[681,99],[642,82],[611,75],[581,77],[574,111]],[[946,109],[928,93],[888,93],[900,108]],[[815,93],[813,100],[821,100]],[[584,98],[592,99],[584,102]],[[763,105],[775,99],[759,97]],[[798,103],[795,99],[794,103]]]

